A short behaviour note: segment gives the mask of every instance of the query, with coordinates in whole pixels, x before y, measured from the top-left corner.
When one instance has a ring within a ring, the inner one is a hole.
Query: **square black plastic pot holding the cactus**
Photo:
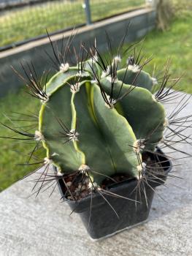
[[[157,151],[162,154],[159,148]],[[154,189],[164,184],[166,176],[172,168],[172,163],[166,157],[162,155],[157,156],[156,154],[151,154],[150,157],[156,159],[157,162],[161,162],[164,172],[158,176],[159,179],[153,179],[153,181],[149,179],[147,184],[143,182],[142,186],[144,187],[141,187],[140,194],[136,189],[138,181],[135,179],[123,181],[110,188],[110,192],[128,197],[130,200],[110,195],[104,195],[106,199],[104,200],[104,197],[99,193],[85,197],[78,203],[68,200],[72,211],[80,214],[82,222],[91,238],[99,239],[112,236],[121,230],[133,227],[147,220]],[[62,180],[59,181],[58,185],[61,195],[64,196],[66,189]],[[139,203],[135,202],[136,198]]]

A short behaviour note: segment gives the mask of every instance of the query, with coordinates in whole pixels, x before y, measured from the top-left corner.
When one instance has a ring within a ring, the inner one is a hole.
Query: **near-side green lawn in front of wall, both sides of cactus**
[[[153,54],[153,61],[148,65],[147,70],[153,70],[155,63],[160,69],[168,57],[172,57],[172,73],[174,77],[183,75],[180,81],[180,87],[188,93],[192,93],[192,75],[191,75],[191,59],[192,59],[192,14],[189,12],[180,15],[174,19],[174,22],[166,32],[152,31],[145,39],[145,50],[147,56]],[[20,91],[18,94],[10,94],[0,102],[1,122],[5,122],[7,118],[3,114],[13,115],[11,112],[25,113],[38,111],[38,102],[31,99],[27,94]],[[14,114],[15,116],[16,114]],[[13,119],[17,119],[15,116]],[[33,119],[34,120],[34,119]],[[31,121],[33,121],[31,120]],[[17,125],[17,121],[15,124]],[[8,124],[8,123],[7,123]],[[23,121],[20,126],[28,126],[30,121]],[[32,122],[35,124],[35,121]],[[33,130],[33,129],[32,129]],[[34,132],[34,130],[33,130]],[[7,135],[7,130],[1,127],[0,135]],[[24,146],[23,146],[24,145]],[[23,177],[29,170],[34,170],[34,166],[23,167],[18,163],[26,160],[31,145],[13,143],[12,141],[1,139],[1,159],[0,159],[0,191],[8,187],[18,178]],[[19,151],[19,152],[18,152]]]

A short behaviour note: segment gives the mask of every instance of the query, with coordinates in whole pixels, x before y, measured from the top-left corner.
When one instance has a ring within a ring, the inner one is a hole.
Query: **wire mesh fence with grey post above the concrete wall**
[[[145,0],[0,0],[0,50],[141,6]]]

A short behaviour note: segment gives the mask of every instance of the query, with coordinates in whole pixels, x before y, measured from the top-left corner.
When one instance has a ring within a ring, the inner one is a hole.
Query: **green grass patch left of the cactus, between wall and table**
[[[39,102],[32,99],[32,97],[28,96],[23,90],[18,92],[18,94],[9,94],[7,97],[4,97],[4,99],[1,99],[0,102],[1,122],[11,127],[34,125],[34,121],[13,121],[13,124],[10,124],[9,120],[4,115],[11,117],[13,120],[18,118],[23,119],[22,115],[12,113],[12,111],[20,113],[38,113],[38,110]],[[24,118],[26,119],[26,117]],[[9,132],[9,130],[2,126],[0,127],[0,136],[12,135],[13,132]],[[18,138],[19,136],[14,135],[14,137]],[[18,164],[26,162],[26,159],[28,159],[27,154],[31,151],[32,147],[32,144],[21,143],[18,140],[0,139],[0,191],[37,167],[37,165],[29,167],[18,166]],[[34,162],[36,161],[37,160],[34,160]]]

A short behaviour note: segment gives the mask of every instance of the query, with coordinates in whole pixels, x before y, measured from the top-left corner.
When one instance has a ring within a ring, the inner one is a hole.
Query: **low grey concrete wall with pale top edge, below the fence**
[[[92,45],[96,37],[99,50],[106,51],[107,43],[105,31],[110,34],[112,46],[115,47],[120,42],[120,39],[125,34],[128,23],[131,21],[126,42],[134,41],[139,37],[143,37],[148,31],[155,27],[155,11],[150,8],[135,10],[114,18],[102,20],[93,23],[90,26],[84,26],[80,29],[75,29],[77,36],[74,39],[73,45],[78,48],[80,42],[85,42],[86,45]],[[67,42],[72,31],[64,33],[64,43]],[[61,46],[63,34],[57,34],[52,38],[53,41],[58,41],[58,47]],[[51,53],[50,43],[47,38],[39,39],[38,41],[29,42],[26,45],[15,49],[7,50],[0,53],[0,97],[7,94],[8,91],[16,91],[22,82],[15,77],[10,66],[19,69],[19,60],[34,61],[35,67],[39,73],[45,69],[50,69],[50,62],[45,56],[45,50]],[[72,56],[71,56],[72,57]]]

